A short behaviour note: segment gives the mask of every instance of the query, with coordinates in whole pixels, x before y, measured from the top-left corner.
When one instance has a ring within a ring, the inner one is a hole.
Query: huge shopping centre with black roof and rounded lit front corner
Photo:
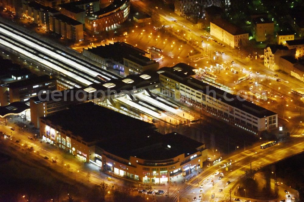
[[[78,116],[84,111],[89,113]],[[207,159],[204,144],[154,129],[153,124],[92,102],[40,118],[43,140],[120,177],[166,183],[170,177],[182,177],[202,167]]]

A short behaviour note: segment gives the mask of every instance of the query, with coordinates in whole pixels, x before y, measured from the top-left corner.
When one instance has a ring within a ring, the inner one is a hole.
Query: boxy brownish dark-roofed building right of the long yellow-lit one
[[[253,19],[252,23],[252,35],[257,42],[262,42],[273,37],[275,31],[274,22],[265,17],[258,17]]]

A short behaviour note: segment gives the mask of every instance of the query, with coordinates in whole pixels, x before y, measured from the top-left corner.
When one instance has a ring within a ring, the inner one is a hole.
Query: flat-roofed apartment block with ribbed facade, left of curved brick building
[[[83,25],[63,14],[50,16],[50,30],[73,41],[83,40]]]

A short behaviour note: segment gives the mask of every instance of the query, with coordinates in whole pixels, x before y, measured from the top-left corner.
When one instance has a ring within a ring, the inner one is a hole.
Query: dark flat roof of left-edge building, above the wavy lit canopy
[[[2,84],[0,86],[7,86],[10,89],[16,89],[16,88],[36,85],[39,83],[54,82],[54,81],[56,81],[56,79],[52,79],[48,75],[43,75],[43,76],[36,76],[36,77],[32,77],[29,79],[24,79],[24,80],[20,80],[20,81],[16,81],[16,82],[11,82],[9,84]]]

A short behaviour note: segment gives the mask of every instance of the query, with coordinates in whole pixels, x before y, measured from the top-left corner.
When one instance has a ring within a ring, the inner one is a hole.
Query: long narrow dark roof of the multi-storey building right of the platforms
[[[172,67],[174,68],[174,67]],[[162,70],[162,69],[160,69]],[[275,115],[276,113],[265,109],[263,107],[257,106],[254,103],[251,103],[245,99],[241,99],[240,96],[236,96],[230,93],[227,93],[224,90],[218,89],[214,86],[210,86],[205,82],[194,79],[190,76],[188,77],[179,77],[177,76],[179,72],[176,71],[165,71],[161,72],[161,74],[166,75],[169,78],[176,80],[177,82],[182,83],[185,86],[188,86],[192,89],[199,90],[203,94],[209,94],[209,96],[213,96],[216,99],[220,99],[222,102],[229,104],[230,106],[236,107],[248,114],[256,116],[258,118],[263,118],[265,116]],[[174,76],[175,74],[175,76]],[[214,93],[213,93],[214,92]]]

